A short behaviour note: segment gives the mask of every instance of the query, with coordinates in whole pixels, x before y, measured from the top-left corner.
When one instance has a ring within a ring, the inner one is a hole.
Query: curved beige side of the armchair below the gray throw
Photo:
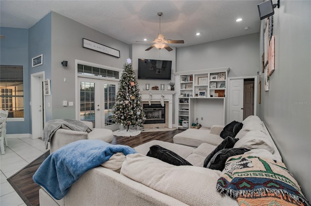
[[[57,129],[50,143],[50,153],[60,147],[77,140],[86,140],[87,132],[74,131],[70,129]]]

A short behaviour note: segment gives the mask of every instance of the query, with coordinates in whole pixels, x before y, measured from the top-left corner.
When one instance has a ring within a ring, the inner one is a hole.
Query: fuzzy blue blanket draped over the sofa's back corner
[[[86,171],[107,161],[113,154],[136,153],[125,145],[113,145],[101,140],[79,140],[53,152],[40,165],[33,179],[45,188],[53,198],[60,200],[70,186]]]

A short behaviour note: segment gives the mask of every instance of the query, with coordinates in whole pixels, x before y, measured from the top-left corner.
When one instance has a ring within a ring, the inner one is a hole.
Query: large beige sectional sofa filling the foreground
[[[244,153],[247,156],[282,162],[259,117],[250,116],[242,123],[234,147],[248,148],[250,151]],[[83,174],[61,200],[53,199],[40,189],[40,206],[238,206],[237,200],[216,190],[224,171],[203,167],[207,156],[217,147],[215,138],[208,139],[209,130],[190,131],[179,135],[182,136],[181,142],[191,142],[198,132],[201,140],[196,139],[197,147],[155,140],[135,147],[136,154],[125,157],[117,153],[101,166]],[[178,138],[175,140],[178,142]],[[193,166],[174,166],[146,156],[152,145],[178,154]]]

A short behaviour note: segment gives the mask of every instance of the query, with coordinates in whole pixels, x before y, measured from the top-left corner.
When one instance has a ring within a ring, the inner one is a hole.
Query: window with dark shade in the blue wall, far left
[[[0,109],[9,118],[24,117],[23,66],[0,66]]]

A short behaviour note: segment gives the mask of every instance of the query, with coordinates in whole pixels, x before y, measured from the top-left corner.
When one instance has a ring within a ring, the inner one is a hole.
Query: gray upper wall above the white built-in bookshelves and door
[[[259,33],[178,48],[178,71],[230,67],[229,77],[256,76]]]

